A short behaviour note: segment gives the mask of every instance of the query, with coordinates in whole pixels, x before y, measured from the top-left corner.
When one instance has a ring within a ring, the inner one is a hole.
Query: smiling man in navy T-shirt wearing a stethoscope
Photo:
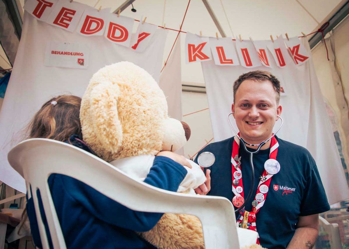
[[[282,113],[279,80],[267,71],[240,75],[233,84],[233,96],[231,110],[240,137],[248,144],[270,138]],[[227,197],[236,209],[251,186],[250,155],[241,143],[231,137],[198,153],[210,151],[216,158],[209,168],[208,195]],[[246,146],[250,151],[257,149]],[[330,207],[309,151],[274,136],[253,156],[253,164],[254,189],[243,210],[236,213],[239,226],[257,230],[266,248],[312,248],[318,235],[318,214]],[[207,191],[197,190],[200,194]]]

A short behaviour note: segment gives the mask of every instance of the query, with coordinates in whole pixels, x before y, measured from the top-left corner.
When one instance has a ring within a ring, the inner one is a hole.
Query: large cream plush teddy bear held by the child
[[[83,139],[100,158],[144,180],[159,151],[176,151],[190,137],[188,125],[169,118],[167,110],[163,91],[146,70],[131,62],[105,66],[82,97]],[[206,178],[190,162],[178,191],[195,194]],[[205,248],[200,220],[187,214],[165,213],[153,229],[138,234],[159,249]]]

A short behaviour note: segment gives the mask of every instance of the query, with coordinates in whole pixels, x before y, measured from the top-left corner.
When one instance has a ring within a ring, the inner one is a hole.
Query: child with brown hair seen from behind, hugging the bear
[[[81,98],[72,95],[58,96],[47,101],[30,124],[29,138],[65,141],[93,153],[82,141],[80,102]],[[160,152],[144,182],[176,191],[187,173],[182,165],[191,167],[182,156],[169,151]],[[153,248],[134,231],[150,230],[162,213],[133,211],[65,175],[52,174],[48,183],[68,249]],[[38,198],[49,245],[53,248],[39,195]],[[32,198],[28,199],[27,212],[33,241],[37,247],[42,248]]]

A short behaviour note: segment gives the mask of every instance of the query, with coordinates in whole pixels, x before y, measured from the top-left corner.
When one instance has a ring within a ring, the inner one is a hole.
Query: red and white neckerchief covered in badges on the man
[[[233,198],[233,204],[236,207],[240,207],[244,202],[244,187],[242,181],[243,179],[241,172],[241,163],[240,158],[238,157],[239,145],[240,140],[237,138],[237,136],[235,136],[233,142],[233,150],[231,154],[231,173],[233,181],[232,191],[235,195]],[[241,224],[240,226],[243,228],[248,228],[257,231],[255,223],[255,214],[258,213],[259,209],[264,205],[266,201],[270,181],[272,180],[273,175],[279,172],[280,170],[280,165],[276,161],[278,147],[279,143],[277,142],[275,136],[273,136],[270,141],[269,160],[266,161],[265,169],[263,171],[263,174],[260,176],[257,193],[254,197],[254,201],[252,202],[252,212],[244,211],[243,213],[241,213],[240,218],[237,221],[238,226],[239,224]],[[268,161],[270,162],[269,164]],[[268,171],[266,169],[268,169]],[[252,181],[254,181],[254,179],[252,179]]]

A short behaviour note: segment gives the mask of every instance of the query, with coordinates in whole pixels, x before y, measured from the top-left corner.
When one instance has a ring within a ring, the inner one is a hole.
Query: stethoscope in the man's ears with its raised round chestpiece
[[[231,122],[230,122],[230,115],[234,114],[233,112],[228,114],[228,122],[229,125],[231,127],[231,129],[233,130],[233,132],[235,133],[235,136],[242,142],[240,144],[243,145],[244,150],[250,154],[250,168],[251,168],[251,186],[250,186],[250,191],[248,192],[247,198],[245,199],[244,203],[237,209],[235,210],[235,212],[239,212],[241,209],[243,209],[243,207],[245,206],[246,202],[251,198],[252,193],[253,193],[253,189],[254,189],[254,165],[253,165],[253,155],[257,154],[260,149],[262,148],[263,145],[265,145],[270,139],[272,139],[281,129],[282,125],[283,125],[283,119],[277,115],[280,120],[281,120],[281,125],[279,126],[279,128],[275,131],[275,133],[270,136],[268,139],[266,139],[265,141],[262,141],[259,144],[249,144],[247,143],[242,137],[240,137],[238,135],[238,133],[236,132],[236,130],[234,129],[234,127],[232,126]],[[258,146],[257,150],[255,151],[250,151],[247,149],[246,145],[250,145],[250,146]],[[199,156],[198,156],[198,164],[204,168],[204,173],[206,175],[206,168],[210,167],[214,164],[215,162],[215,156],[213,153],[211,152],[202,152]]]

